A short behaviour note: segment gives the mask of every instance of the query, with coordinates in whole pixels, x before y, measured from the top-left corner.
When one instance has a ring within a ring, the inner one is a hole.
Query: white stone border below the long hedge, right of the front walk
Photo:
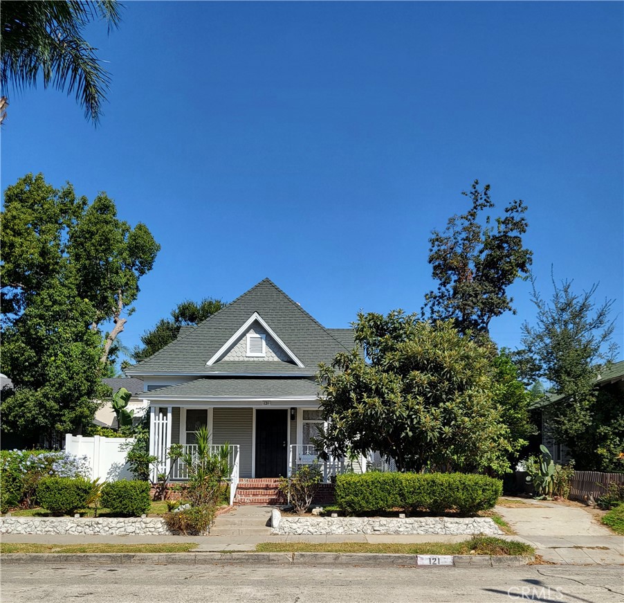
[[[271,512],[271,534],[486,534],[503,532],[490,517],[297,517]]]

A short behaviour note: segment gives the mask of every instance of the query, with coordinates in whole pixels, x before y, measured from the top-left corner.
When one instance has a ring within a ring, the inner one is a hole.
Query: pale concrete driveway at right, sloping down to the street
[[[511,499],[509,499],[511,500]],[[517,539],[556,564],[622,564],[624,538],[598,523],[583,507],[520,499],[518,507],[495,507]]]

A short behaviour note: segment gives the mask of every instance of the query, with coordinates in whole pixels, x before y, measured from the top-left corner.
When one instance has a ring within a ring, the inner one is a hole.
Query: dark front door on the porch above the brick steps
[[[256,477],[286,476],[288,408],[256,411]]]

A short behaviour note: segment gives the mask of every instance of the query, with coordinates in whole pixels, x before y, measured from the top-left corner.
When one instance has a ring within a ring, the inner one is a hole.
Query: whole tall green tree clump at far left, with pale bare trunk
[[[7,188],[0,221],[0,361],[15,386],[3,397],[2,429],[76,431],[102,397],[107,351],[125,322],[120,308],[131,312],[160,248],[144,225],[120,221],[104,193],[89,204],[42,174]]]

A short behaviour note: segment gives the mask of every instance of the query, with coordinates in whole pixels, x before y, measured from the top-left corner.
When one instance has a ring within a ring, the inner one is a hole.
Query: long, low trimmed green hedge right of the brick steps
[[[380,473],[336,476],[336,504],[348,514],[391,509],[474,514],[491,509],[502,482],[468,474]]]

